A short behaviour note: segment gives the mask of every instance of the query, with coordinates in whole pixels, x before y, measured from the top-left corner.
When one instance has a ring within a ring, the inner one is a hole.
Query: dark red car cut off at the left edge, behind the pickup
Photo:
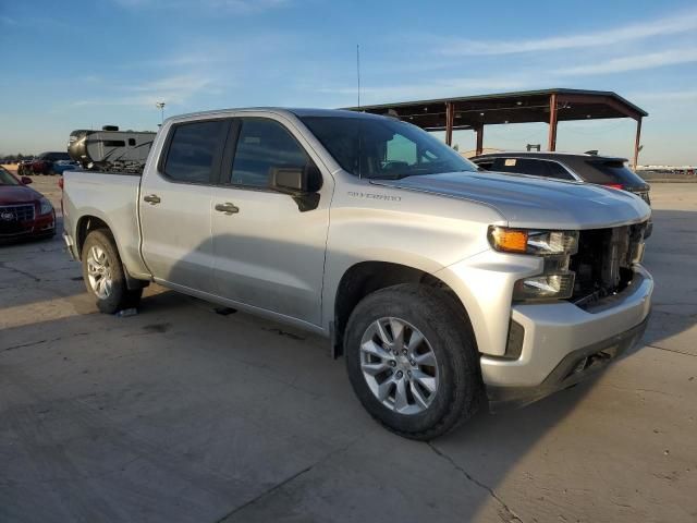
[[[30,178],[17,179],[0,167],[0,241],[51,238],[56,211],[41,193],[27,187]]]

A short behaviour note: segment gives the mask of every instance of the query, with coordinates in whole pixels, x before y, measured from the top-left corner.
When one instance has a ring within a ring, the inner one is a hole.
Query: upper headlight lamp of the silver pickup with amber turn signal
[[[578,231],[537,231],[490,227],[489,243],[502,253],[537,256],[571,255],[578,251]]]

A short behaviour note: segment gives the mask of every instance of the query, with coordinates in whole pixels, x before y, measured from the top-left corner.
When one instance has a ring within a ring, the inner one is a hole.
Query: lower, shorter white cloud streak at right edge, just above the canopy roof
[[[697,48],[667,49],[658,52],[613,58],[588,65],[559,69],[557,70],[557,73],[564,76],[587,76],[594,74],[639,71],[643,69],[653,69],[690,62],[697,62]]]

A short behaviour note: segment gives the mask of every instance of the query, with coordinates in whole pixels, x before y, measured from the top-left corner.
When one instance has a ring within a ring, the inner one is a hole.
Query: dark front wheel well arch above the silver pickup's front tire
[[[435,276],[413,267],[388,262],[362,262],[351,267],[341,278],[334,299],[334,321],[332,327],[332,353],[343,353],[343,337],[348,318],[358,302],[368,294],[399,283],[420,283],[444,291],[455,306],[462,311],[463,319],[469,318],[455,292]]]

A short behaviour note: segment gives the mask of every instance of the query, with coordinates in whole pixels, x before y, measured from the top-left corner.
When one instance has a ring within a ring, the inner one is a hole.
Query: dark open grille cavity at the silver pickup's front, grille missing
[[[576,273],[571,301],[586,307],[626,288],[644,254],[645,231],[646,222],[580,231],[570,264]]]

